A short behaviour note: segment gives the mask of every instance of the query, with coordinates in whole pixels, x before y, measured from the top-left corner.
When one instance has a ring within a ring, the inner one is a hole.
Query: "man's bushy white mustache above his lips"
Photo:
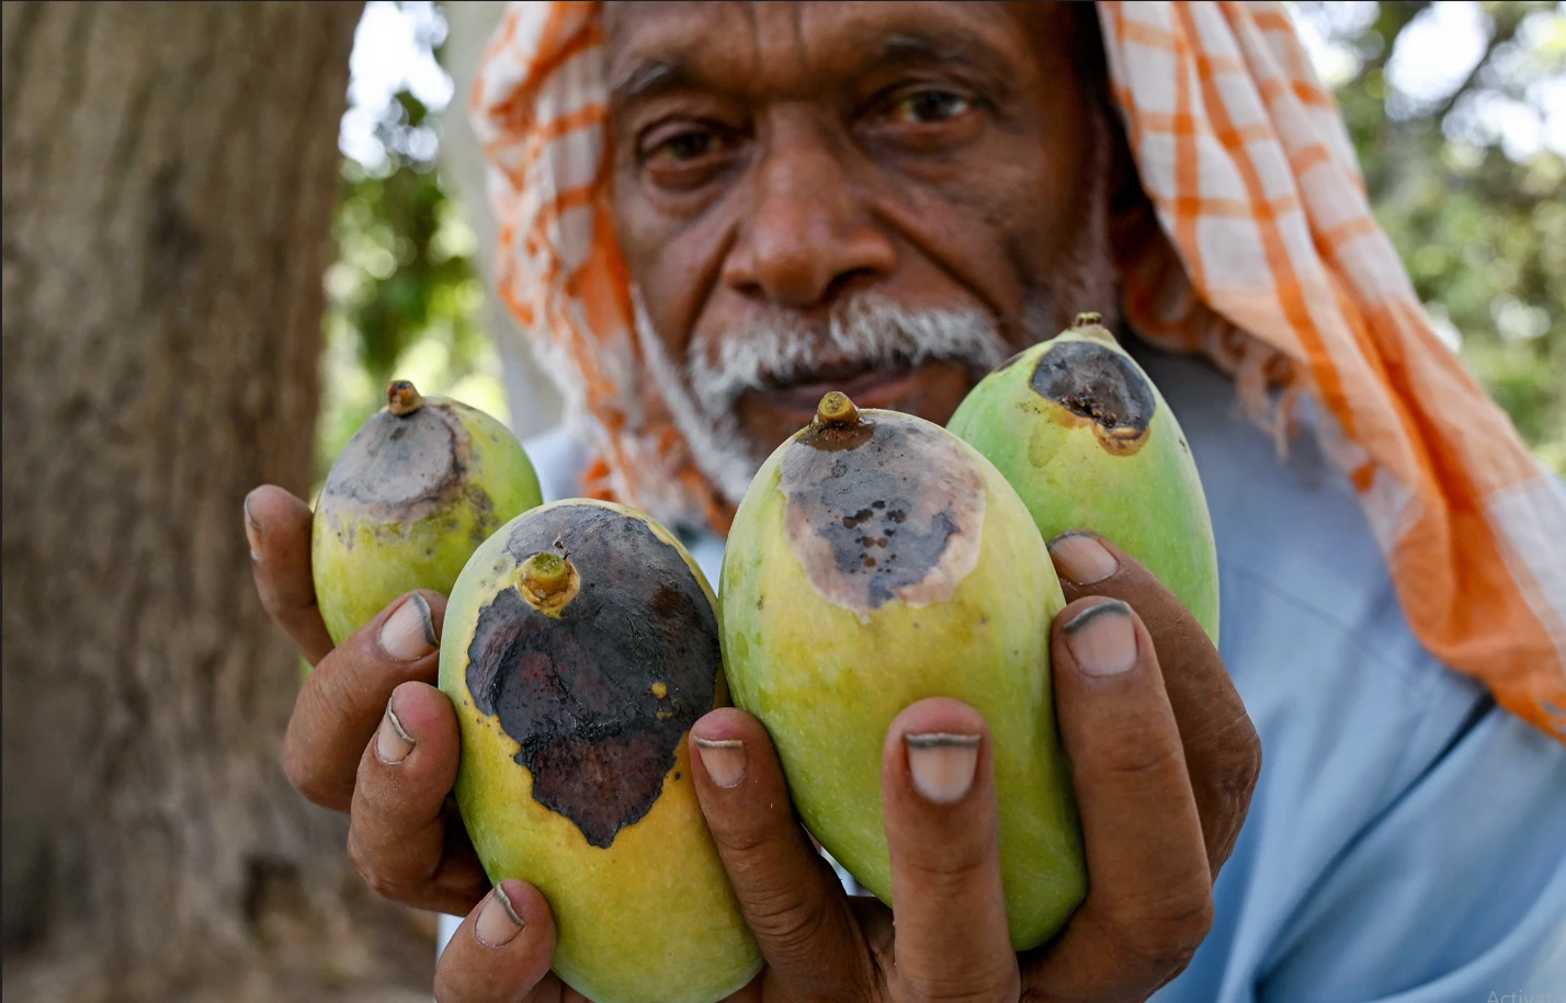
[[[719,336],[698,335],[686,352],[686,376],[700,408],[719,419],[742,394],[799,382],[828,358],[866,369],[944,360],[985,372],[1007,355],[1001,333],[979,310],[910,311],[861,294],[827,324],[777,318]]]

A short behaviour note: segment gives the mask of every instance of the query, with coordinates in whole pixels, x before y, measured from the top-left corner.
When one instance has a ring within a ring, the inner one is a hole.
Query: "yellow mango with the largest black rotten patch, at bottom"
[[[691,724],[728,704],[713,590],[662,526],[568,499],[473,554],[440,688],[457,806],[492,881],[534,884],[554,972],[597,1003],[713,1003],[761,954],[691,779]]]

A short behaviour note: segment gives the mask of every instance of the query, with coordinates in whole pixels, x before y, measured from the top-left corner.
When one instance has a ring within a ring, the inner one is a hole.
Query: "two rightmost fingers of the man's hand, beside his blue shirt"
[[[1023,965],[1024,998],[1146,998],[1212,925],[1262,748],[1217,648],[1140,563],[1090,534],[1049,545],[1071,602],[1052,632],[1055,714],[1073,762],[1088,895]],[[1124,671],[1123,621],[1135,660]]]

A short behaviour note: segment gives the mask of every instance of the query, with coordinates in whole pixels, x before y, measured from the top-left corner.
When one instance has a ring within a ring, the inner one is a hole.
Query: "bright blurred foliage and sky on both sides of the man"
[[[1438,329],[1536,455],[1566,474],[1566,11],[1289,6]],[[509,419],[478,238],[435,167],[443,117],[467,97],[442,69],[446,17],[445,5],[376,2],[359,25],[318,479],[393,374]]]

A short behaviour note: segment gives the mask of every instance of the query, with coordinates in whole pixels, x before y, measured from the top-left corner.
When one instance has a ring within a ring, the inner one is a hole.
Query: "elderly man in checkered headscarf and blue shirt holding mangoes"
[[[568,404],[529,443],[550,498],[648,509],[711,574],[825,390],[946,421],[1077,310],[1138,352],[1206,484],[1217,651],[1113,541],[1051,545],[1090,890],[1035,951],[1007,944],[987,760],[935,764],[940,798],[921,756],[889,768],[893,911],[814,854],[753,718],[694,726],[767,961],[741,998],[1563,990],[1566,502],[1431,335],[1278,9],[517,5],[487,59],[503,293]],[[332,649],[309,510],[263,488],[247,516],[318,660],[290,776],[351,812],[379,892],[467,914],[437,995],[578,998],[543,897],[490,889],[451,811],[443,598]],[[915,726],[985,731],[954,701]]]

